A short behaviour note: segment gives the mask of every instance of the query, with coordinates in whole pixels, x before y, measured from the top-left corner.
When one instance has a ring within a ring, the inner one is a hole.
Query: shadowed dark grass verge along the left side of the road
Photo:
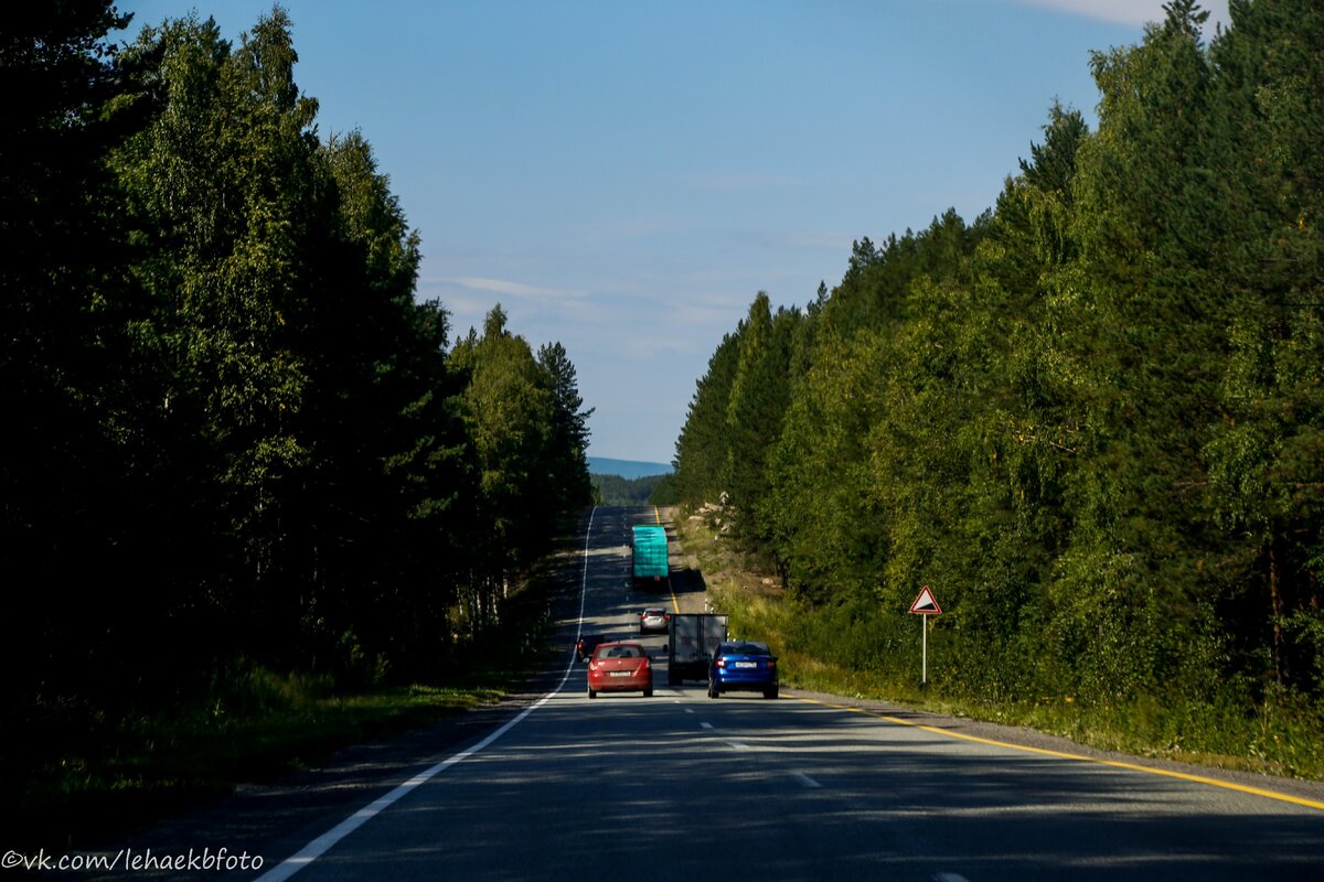
[[[352,744],[422,729],[500,701],[545,666],[549,558],[512,594],[502,625],[433,682],[347,692],[327,676],[238,662],[173,709],[42,707],[9,721],[0,799],[24,849],[69,850],[316,768]],[[8,838],[8,837],[7,837]]]

